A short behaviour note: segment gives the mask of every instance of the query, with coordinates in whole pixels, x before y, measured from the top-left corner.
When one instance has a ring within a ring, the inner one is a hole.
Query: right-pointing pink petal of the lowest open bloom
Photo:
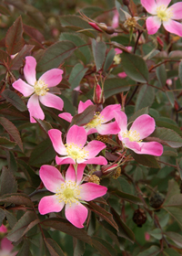
[[[91,201],[94,200],[96,197],[102,197],[106,194],[106,187],[97,185],[95,183],[85,183],[79,186],[80,189],[80,200],[83,201]]]

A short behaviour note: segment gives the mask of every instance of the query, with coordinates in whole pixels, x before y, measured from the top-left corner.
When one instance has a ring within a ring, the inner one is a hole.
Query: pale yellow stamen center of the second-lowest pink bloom
[[[88,156],[88,151],[82,148],[81,144],[77,145],[74,143],[65,144],[67,155],[70,156],[72,159],[81,159],[84,160]]]

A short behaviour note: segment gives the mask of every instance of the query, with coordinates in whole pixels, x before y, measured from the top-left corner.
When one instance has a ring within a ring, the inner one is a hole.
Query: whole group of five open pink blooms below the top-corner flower
[[[64,103],[55,94],[48,92],[62,80],[63,70],[50,69],[38,80],[35,76],[36,61],[33,57],[25,58],[25,80],[16,80],[13,87],[20,91],[27,101],[30,112],[30,122],[35,119],[43,120],[45,114],[40,107],[41,102],[46,107],[53,107],[62,111]],[[97,105],[103,102],[103,91],[96,85],[94,101]],[[90,100],[78,104],[78,114],[86,108],[94,105]],[[73,116],[69,112],[62,112],[59,117],[72,122]],[[86,221],[88,209],[86,202],[102,197],[106,194],[107,188],[93,182],[87,182],[86,165],[107,165],[106,157],[98,155],[106,148],[106,144],[98,140],[88,138],[90,134],[118,136],[122,146],[139,155],[160,156],[163,153],[163,146],[157,142],[143,142],[147,136],[154,132],[156,123],[154,119],[143,114],[136,118],[128,129],[126,113],[121,111],[120,104],[108,105],[102,111],[95,112],[93,119],[83,126],[72,125],[66,135],[58,129],[48,131],[49,138],[57,153],[56,165],[69,165],[66,175],[52,165],[42,165],[40,178],[47,190],[53,193],[51,196],[43,197],[38,205],[40,214],[59,212],[65,207],[66,219],[77,228],[83,228]],[[120,153],[118,152],[118,155]]]

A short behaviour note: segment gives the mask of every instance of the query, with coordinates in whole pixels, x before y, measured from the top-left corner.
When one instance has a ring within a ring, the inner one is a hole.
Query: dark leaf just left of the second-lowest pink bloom
[[[56,157],[56,152],[49,138],[35,146],[30,155],[30,165],[43,165],[51,162]]]

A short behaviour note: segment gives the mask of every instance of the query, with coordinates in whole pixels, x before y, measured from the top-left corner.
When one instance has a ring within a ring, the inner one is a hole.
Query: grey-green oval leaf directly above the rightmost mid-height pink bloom
[[[153,87],[144,84],[140,87],[140,91],[136,98],[136,111],[150,107],[155,99],[155,90]]]

